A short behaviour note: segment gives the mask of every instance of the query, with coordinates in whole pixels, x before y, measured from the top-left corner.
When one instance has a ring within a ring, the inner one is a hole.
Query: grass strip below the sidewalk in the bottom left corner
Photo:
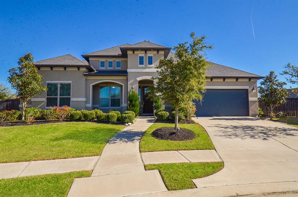
[[[0,179],[0,196],[66,196],[75,178],[89,177],[91,171]]]

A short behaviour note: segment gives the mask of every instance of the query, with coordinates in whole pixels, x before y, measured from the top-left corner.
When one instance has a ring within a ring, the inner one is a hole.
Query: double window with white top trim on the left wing
[[[70,106],[70,83],[47,83],[46,107]]]

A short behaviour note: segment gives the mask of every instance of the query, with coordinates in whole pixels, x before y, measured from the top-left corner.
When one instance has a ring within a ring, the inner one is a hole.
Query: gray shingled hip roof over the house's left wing
[[[35,65],[89,65],[86,60],[80,60],[77,57],[66,54],[58,57],[52,57],[46,60],[34,62]]]

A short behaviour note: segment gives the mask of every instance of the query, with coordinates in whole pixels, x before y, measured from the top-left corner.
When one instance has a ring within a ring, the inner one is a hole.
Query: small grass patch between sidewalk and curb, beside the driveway
[[[168,190],[195,188],[192,179],[209,176],[224,168],[224,162],[147,164],[146,170],[158,170]]]

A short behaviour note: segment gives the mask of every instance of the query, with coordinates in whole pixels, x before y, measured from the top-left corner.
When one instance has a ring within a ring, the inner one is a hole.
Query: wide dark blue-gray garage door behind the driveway
[[[201,103],[194,101],[196,116],[248,116],[247,90],[207,90]]]

